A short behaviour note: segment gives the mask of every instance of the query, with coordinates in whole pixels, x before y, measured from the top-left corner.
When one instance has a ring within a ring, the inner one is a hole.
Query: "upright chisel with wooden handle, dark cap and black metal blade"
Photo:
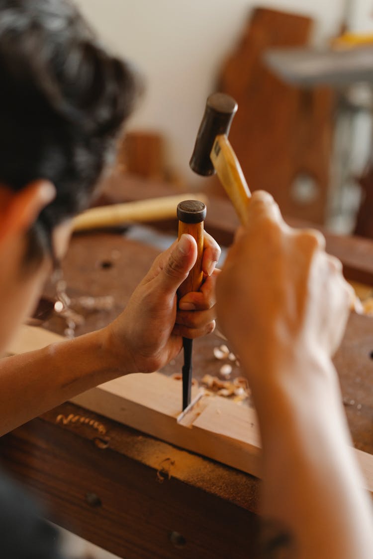
[[[177,206],[177,217],[179,220],[178,238],[188,233],[192,235],[197,243],[197,260],[186,280],[178,288],[178,298],[181,299],[190,291],[198,291],[203,280],[202,257],[204,252],[204,220],[206,218],[206,206],[198,200],[185,200]],[[184,366],[182,368],[183,395],[182,409],[190,404],[192,388],[192,340],[183,338]]]

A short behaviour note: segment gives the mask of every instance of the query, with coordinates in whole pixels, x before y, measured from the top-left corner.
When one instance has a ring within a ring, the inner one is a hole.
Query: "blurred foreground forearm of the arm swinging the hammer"
[[[332,363],[305,358],[302,374],[293,375],[297,366],[277,370],[266,390],[253,387],[263,444],[262,513],[271,524],[266,543],[285,542],[279,557],[280,548],[292,557],[294,546],[300,558],[368,559],[371,504],[361,489],[336,376],[326,370]]]

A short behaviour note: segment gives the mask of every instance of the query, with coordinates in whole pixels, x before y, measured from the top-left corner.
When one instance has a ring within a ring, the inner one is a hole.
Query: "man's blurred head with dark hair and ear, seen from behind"
[[[63,255],[136,82],[67,0],[0,0],[0,347]]]

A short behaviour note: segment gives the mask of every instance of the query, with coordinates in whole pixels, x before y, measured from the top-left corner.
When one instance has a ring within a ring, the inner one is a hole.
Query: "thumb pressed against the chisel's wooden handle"
[[[159,274],[160,287],[164,291],[176,293],[187,278],[197,259],[197,243],[192,235],[183,234],[168,256]]]

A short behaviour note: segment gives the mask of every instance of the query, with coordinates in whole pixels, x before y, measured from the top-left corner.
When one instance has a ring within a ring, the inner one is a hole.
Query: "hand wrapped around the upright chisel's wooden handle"
[[[119,369],[156,371],[180,352],[183,336],[197,338],[214,330],[219,257],[219,245],[205,232],[204,282],[178,303],[177,289],[196,262],[195,239],[182,235],[154,260],[125,310],[106,328],[108,350],[117,356]]]

